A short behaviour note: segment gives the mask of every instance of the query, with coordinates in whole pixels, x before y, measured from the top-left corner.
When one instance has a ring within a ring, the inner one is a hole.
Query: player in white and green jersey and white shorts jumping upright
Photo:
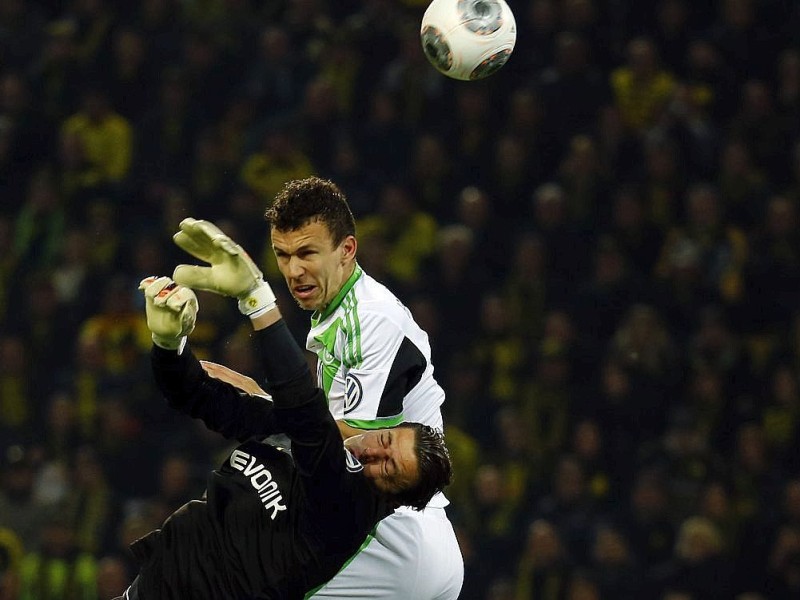
[[[355,221],[342,191],[317,177],[290,181],[265,216],[289,291],[314,311],[306,347],[317,355],[318,384],[342,436],[406,420],[441,429],[444,391],[433,377],[428,336],[394,294],[359,267]],[[181,229],[203,223],[186,219]],[[174,278],[180,281],[178,270]],[[464,563],[447,504],[438,494],[422,511],[395,511],[308,597],[458,598]]]

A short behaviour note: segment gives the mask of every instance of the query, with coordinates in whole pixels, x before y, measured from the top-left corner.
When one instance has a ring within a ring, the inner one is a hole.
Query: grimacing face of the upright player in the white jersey
[[[294,231],[272,230],[278,268],[294,299],[305,310],[323,310],[353,271],[356,240],[334,245],[328,226],[311,221]]]

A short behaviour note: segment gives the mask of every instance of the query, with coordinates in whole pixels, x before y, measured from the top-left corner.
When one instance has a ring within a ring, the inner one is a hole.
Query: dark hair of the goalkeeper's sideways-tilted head
[[[407,427],[416,433],[414,454],[419,466],[419,479],[414,486],[393,494],[392,498],[401,505],[422,510],[453,478],[450,452],[444,443],[444,435],[429,425],[402,423],[397,427]]]

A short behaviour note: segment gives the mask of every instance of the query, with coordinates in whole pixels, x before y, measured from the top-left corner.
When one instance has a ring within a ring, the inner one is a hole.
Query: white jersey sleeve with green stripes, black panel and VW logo
[[[403,399],[427,361],[390,314],[359,310],[342,328],[342,369],[331,387],[335,415],[359,429],[393,427],[404,420]]]

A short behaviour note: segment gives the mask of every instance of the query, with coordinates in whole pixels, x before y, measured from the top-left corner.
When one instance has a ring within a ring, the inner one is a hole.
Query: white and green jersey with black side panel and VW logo
[[[428,335],[358,265],[311,317],[306,347],[317,355],[317,381],[334,419],[360,429],[403,421],[442,429],[444,390],[433,378]]]

